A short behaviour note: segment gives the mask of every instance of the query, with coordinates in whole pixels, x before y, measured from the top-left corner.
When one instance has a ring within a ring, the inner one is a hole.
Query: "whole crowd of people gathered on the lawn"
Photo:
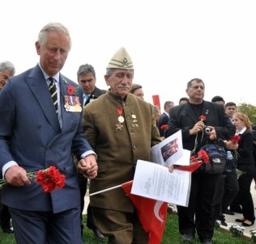
[[[100,241],[148,243],[149,234],[122,188],[90,196],[84,206],[87,185],[95,193],[134,179],[137,160],[150,162],[151,147],[179,130],[184,149],[197,153],[222,141],[233,154],[224,173],[192,173],[189,204],[177,206],[181,241],[193,243],[197,233],[201,243],[213,243],[215,221],[226,225],[224,214],[233,212],[243,214],[236,220],[241,225],[254,225],[252,123],[236,103],[220,96],[204,100],[205,82],[193,78],[187,97],[176,106],[166,101],[161,114],[144,101],[143,86],[133,83],[126,48],[106,65],[109,89],[101,90],[92,65],[79,66],[77,82],[61,73],[70,47],[68,29],[48,23],[36,40],[35,67],[15,75],[10,61],[0,63],[0,178],[8,182],[0,198],[4,233],[14,233],[18,244],[79,244],[87,207],[87,228]],[[165,149],[167,158],[175,154],[173,148]],[[45,193],[28,173],[49,166],[65,175],[65,186]],[[243,173],[239,177],[237,170]]]

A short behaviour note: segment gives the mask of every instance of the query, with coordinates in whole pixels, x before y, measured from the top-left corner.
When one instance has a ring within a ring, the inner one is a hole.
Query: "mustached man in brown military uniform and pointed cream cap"
[[[150,161],[151,146],[161,141],[151,104],[130,94],[133,78],[130,55],[120,48],[105,74],[110,89],[83,108],[84,133],[99,166],[90,193],[134,179],[137,160]],[[121,187],[90,196],[90,203],[96,226],[109,243],[148,243],[148,233]]]

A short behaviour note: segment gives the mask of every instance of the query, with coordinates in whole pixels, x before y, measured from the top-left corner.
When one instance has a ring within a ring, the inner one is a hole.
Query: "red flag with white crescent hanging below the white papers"
[[[122,183],[122,189],[130,197],[143,229],[149,233],[149,244],[160,244],[163,238],[168,203],[131,194],[133,180]]]

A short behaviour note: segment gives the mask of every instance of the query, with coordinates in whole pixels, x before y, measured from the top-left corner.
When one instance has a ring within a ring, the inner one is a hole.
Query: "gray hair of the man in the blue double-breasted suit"
[[[69,45],[69,48],[68,48],[68,51],[70,51],[70,49],[71,49],[70,32],[64,25],[62,25],[62,23],[57,23],[57,22],[56,23],[55,22],[47,23],[45,25],[45,27],[43,27],[41,29],[41,31],[39,32],[39,34],[38,34],[39,44],[41,44],[41,45],[45,44],[49,32],[64,32],[64,33],[66,33],[66,35],[68,36],[68,38],[70,40],[70,45]]]

